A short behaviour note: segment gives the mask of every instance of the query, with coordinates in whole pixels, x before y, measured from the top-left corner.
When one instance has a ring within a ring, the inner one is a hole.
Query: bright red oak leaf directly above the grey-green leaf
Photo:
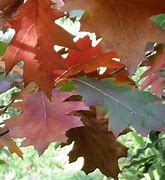
[[[124,65],[116,62],[113,58],[117,58],[114,52],[103,52],[100,44],[92,47],[92,41],[88,36],[79,39],[76,42],[78,50],[69,50],[68,57],[65,59],[65,65],[68,68],[62,75],[54,71],[56,82],[63,78],[69,78],[74,75],[83,75],[95,77],[98,79],[113,77],[118,83],[134,84],[128,77],[128,72]],[[96,69],[98,67],[107,67],[107,70],[101,75]],[[116,70],[117,69],[117,70]]]

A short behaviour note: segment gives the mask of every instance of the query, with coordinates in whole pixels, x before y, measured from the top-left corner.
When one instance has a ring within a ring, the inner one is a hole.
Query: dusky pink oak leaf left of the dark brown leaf
[[[12,137],[25,137],[22,145],[34,145],[39,154],[54,141],[65,142],[65,131],[82,125],[79,117],[69,113],[88,109],[82,102],[64,102],[70,95],[53,90],[51,101],[43,93],[26,95],[14,106],[23,113],[6,122]]]

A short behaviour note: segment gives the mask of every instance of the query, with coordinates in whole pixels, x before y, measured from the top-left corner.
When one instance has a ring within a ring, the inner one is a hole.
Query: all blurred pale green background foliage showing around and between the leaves
[[[80,12],[79,12],[80,13]],[[73,13],[74,14],[74,13]],[[165,14],[151,18],[161,28],[165,28]],[[57,23],[72,32],[77,37],[89,33],[79,32],[79,19],[74,22],[61,19]],[[13,30],[3,34],[0,32],[0,55],[3,55],[7,44],[13,36]],[[91,38],[95,35],[90,34]],[[18,92],[18,88],[10,88],[11,82],[20,80],[17,73],[6,76],[4,69],[0,68],[0,109],[4,114],[0,116],[0,122],[17,115],[19,112],[12,107],[12,94]],[[139,76],[144,72],[139,68],[134,75],[138,82]],[[8,84],[6,83],[8,82]],[[4,92],[4,93],[3,93]],[[21,139],[16,140],[20,144]],[[164,180],[165,179],[165,135],[160,132],[151,132],[148,137],[143,137],[135,131],[123,135],[119,141],[129,148],[128,158],[121,158],[119,166],[122,173],[120,180]],[[7,148],[0,149],[0,179],[4,180],[107,180],[99,170],[85,175],[81,170],[83,158],[75,163],[68,163],[67,153],[72,145],[60,148],[59,143],[50,144],[44,154],[39,157],[33,147],[22,147],[23,160],[15,154],[11,155]],[[112,154],[113,156],[113,154]]]

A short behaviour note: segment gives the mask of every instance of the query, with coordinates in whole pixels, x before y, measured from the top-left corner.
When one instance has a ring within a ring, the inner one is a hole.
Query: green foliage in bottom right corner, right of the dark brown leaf
[[[128,137],[128,135],[127,135]],[[123,166],[123,176],[125,179],[142,179],[144,176],[150,179],[164,179],[165,172],[165,139],[160,135],[157,140],[151,141],[133,132],[131,141],[127,139],[130,147],[129,160]],[[126,141],[123,137],[122,141]],[[157,149],[159,146],[159,149]],[[124,161],[124,160],[123,160]]]

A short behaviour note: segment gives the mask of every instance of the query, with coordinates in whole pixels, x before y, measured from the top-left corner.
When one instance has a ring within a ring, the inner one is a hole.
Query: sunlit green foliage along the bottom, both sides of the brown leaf
[[[160,137],[163,138],[163,135]],[[119,175],[120,180],[139,180],[144,177],[150,179],[164,179],[165,172],[165,156],[163,155],[165,141],[159,142],[162,150],[157,150],[149,138],[144,138],[136,132],[121,136],[119,141],[129,147],[129,156],[127,159],[119,160],[120,168],[123,173]],[[20,141],[19,141],[20,142]],[[150,146],[149,146],[150,144]],[[151,145],[152,144],[152,145]],[[85,175],[80,171],[82,160],[76,163],[68,164],[67,153],[71,146],[60,149],[58,144],[51,144],[45,153],[39,157],[37,152],[32,147],[22,148],[24,152],[24,160],[17,156],[10,156],[6,149],[0,153],[0,159],[7,164],[1,165],[0,179],[12,177],[13,179],[84,179],[84,180],[106,180],[98,170],[94,173]],[[164,147],[163,147],[164,146]],[[148,148],[146,148],[148,147]],[[140,152],[140,154],[139,154]],[[137,156],[138,154],[138,156]],[[151,166],[149,166],[151,164]],[[148,169],[148,172],[145,172]]]

